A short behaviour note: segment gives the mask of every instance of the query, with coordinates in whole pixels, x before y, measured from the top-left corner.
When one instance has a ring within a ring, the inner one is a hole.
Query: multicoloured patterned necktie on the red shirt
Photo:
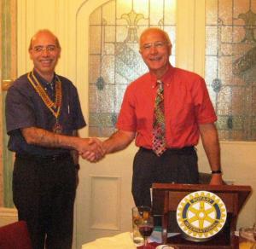
[[[164,107],[164,85],[158,80],[158,90],[154,102],[153,117],[153,143],[152,149],[156,155],[160,156],[166,151],[166,123],[165,123],[165,107]]]

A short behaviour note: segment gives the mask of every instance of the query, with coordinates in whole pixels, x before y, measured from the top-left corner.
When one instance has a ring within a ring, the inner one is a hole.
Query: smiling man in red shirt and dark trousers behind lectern
[[[222,184],[216,114],[203,78],[172,67],[172,43],[159,28],[146,29],[140,38],[140,53],[149,72],[125,91],[116,124],[118,130],[103,142],[106,153],[126,148],[135,138],[139,150],[134,159],[132,194],[137,206],[150,206],[153,182],[197,183],[194,146],[199,137],[212,169],[211,184]],[[153,123],[157,80],[163,83],[165,151],[154,153]]]

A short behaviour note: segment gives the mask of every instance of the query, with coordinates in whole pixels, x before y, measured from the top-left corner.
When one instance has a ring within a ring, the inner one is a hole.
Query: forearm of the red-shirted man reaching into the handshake
[[[134,139],[135,132],[118,130],[103,142],[106,153],[114,153],[126,148]]]

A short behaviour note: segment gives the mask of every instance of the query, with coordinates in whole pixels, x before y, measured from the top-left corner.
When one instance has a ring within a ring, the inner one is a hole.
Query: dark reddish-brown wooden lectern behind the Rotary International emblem
[[[236,222],[241,207],[252,191],[250,186],[154,183],[152,188],[154,216],[162,217],[163,243],[182,249],[238,248],[238,239],[235,235]],[[227,210],[224,228],[217,235],[213,235],[209,240],[203,242],[185,240],[182,234],[167,238],[167,230],[170,226],[169,213],[177,211],[178,204],[186,195],[202,190],[212,192],[223,200]]]

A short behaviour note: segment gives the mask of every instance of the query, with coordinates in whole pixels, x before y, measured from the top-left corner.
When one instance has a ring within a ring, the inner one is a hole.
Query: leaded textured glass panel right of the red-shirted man
[[[256,139],[256,1],[206,1],[206,81],[221,140]]]

